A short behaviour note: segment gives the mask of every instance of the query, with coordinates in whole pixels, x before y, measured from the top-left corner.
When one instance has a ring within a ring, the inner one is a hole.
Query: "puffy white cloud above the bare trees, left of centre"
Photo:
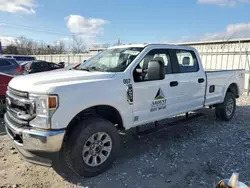
[[[80,36],[87,46],[95,43],[98,36],[103,35],[103,26],[108,21],[99,18],[85,18],[80,15],[70,15],[65,18],[70,32]]]

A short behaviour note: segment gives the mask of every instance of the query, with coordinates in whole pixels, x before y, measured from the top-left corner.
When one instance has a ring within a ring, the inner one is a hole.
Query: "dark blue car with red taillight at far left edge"
[[[22,74],[22,69],[15,59],[0,57],[0,73],[1,72],[10,75],[20,75]]]

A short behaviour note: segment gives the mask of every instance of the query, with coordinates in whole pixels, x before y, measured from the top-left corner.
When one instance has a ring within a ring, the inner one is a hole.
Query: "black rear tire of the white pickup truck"
[[[231,113],[227,113],[229,103],[233,102]],[[232,92],[227,92],[224,102],[215,108],[216,117],[223,121],[230,121],[234,117],[236,109],[236,97]]]

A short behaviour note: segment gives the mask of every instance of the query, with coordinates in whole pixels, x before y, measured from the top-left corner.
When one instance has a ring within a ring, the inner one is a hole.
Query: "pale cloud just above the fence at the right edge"
[[[247,38],[250,37],[250,22],[230,24],[224,31],[215,33],[206,33],[201,37],[201,40],[219,40],[231,38]]]

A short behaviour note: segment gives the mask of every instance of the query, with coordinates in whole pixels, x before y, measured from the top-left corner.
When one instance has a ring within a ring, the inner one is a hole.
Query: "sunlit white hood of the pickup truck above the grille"
[[[83,70],[61,70],[21,75],[13,78],[9,86],[20,91],[46,94],[54,88],[75,83],[109,79],[115,73],[87,72]]]

